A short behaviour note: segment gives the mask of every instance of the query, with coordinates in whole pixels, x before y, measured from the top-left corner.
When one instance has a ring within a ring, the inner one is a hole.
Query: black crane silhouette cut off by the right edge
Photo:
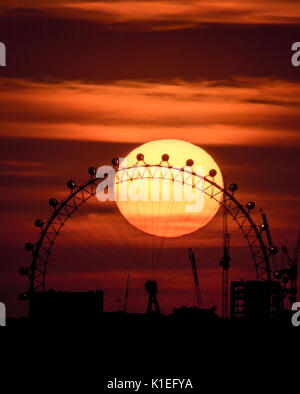
[[[288,290],[288,292],[290,293],[289,299],[292,306],[293,303],[296,302],[297,298],[298,259],[300,254],[300,229],[298,231],[298,238],[296,242],[294,257],[292,258],[290,256],[286,246],[282,247],[282,251],[285,255],[289,267],[280,271],[276,271],[274,275],[276,279],[283,278],[283,281],[285,283],[290,281],[290,289]]]

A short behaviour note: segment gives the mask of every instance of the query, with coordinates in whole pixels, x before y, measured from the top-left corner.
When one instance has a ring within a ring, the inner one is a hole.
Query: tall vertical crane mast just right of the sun
[[[229,241],[230,235],[228,233],[227,224],[227,209],[224,201],[223,207],[223,256],[220,260],[220,266],[223,268],[222,272],[222,316],[224,319],[228,318],[228,270],[230,266],[229,256]]]

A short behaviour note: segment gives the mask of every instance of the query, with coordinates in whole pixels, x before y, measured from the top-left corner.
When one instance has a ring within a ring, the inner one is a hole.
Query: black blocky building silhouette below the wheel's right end
[[[267,320],[282,313],[279,282],[231,282],[231,319]]]

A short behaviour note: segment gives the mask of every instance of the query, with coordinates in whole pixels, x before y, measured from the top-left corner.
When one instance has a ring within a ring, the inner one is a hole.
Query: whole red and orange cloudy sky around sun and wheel
[[[25,313],[16,295],[27,285],[17,271],[29,263],[23,245],[37,239],[34,220],[51,212],[48,199],[61,200],[66,181],[84,181],[90,165],[109,163],[157,138],[182,138],[206,149],[228,180],[239,184],[239,200],[265,209],[275,243],[287,240],[293,249],[300,69],[290,58],[299,40],[299,8],[282,0],[0,0],[0,41],[7,47],[7,67],[0,67],[0,299],[9,314]],[[98,244],[109,258],[110,239],[102,241],[101,224],[88,228],[90,218],[99,219],[95,207],[90,215],[78,219],[73,235],[62,237],[57,261],[65,264],[53,265],[53,286],[71,289],[76,283],[83,289],[101,281],[93,260],[98,254],[85,265],[72,251],[82,225],[84,242]],[[116,212],[107,217],[119,224]],[[205,252],[199,248],[198,258],[202,285],[218,298],[221,249],[213,245],[220,248],[221,240],[214,230],[220,230],[220,218],[201,235]],[[132,235],[124,241],[131,243]],[[233,275],[247,278],[241,239],[234,245]],[[126,276],[127,266],[118,264],[111,272]],[[169,279],[181,275],[182,262],[172,269],[170,258],[165,264]],[[181,290],[189,274],[176,284]]]

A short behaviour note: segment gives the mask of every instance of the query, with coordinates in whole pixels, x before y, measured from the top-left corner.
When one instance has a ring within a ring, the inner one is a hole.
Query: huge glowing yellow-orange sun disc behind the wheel
[[[203,149],[181,140],[148,142],[120,163],[115,178],[118,208],[130,224],[148,234],[179,237],[194,232],[219,209],[221,194],[211,198],[212,187],[204,179],[211,170],[216,173],[210,179],[223,187],[218,165]]]

